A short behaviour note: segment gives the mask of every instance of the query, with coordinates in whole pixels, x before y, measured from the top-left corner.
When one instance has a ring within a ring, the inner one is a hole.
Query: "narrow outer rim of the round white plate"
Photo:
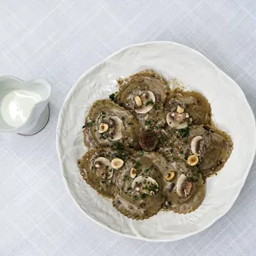
[[[202,226],[200,229],[196,230],[196,231],[192,231],[186,235],[181,235],[180,237],[178,238],[174,238],[174,239],[157,239],[157,238],[146,238],[144,236],[135,236],[135,235],[127,235],[127,234],[124,234],[124,233],[121,233],[121,232],[118,232],[116,230],[112,230],[109,226],[101,223],[100,221],[98,220],[95,220],[93,219],[91,216],[88,216],[88,214],[83,211],[82,207],[78,205],[78,202],[75,200],[75,198],[73,197],[72,193],[70,192],[69,190],[69,184],[68,184],[68,181],[67,179],[64,177],[64,168],[63,168],[63,164],[61,164],[61,154],[60,154],[60,146],[59,146],[59,135],[58,135],[58,130],[59,130],[59,126],[60,126],[60,120],[61,120],[61,116],[63,115],[63,111],[64,111],[64,105],[66,104],[66,102],[69,101],[70,97],[72,96],[73,94],[73,91],[75,90],[75,88],[77,87],[78,83],[80,83],[83,78],[91,72],[92,69],[96,69],[98,66],[100,66],[101,64],[103,64],[104,62],[106,62],[108,59],[111,59],[111,57],[115,56],[115,55],[119,55],[122,51],[125,51],[125,50],[129,50],[130,48],[133,48],[133,47],[137,47],[137,46],[145,46],[145,45],[162,45],[162,44],[170,44],[170,45],[178,45],[178,46],[182,46],[182,47],[185,47],[189,50],[192,50],[193,52],[197,53],[197,55],[201,55],[204,59],[207,60],[207,62],[209,64],[211,64],[214,68],[218,69],[219,72],[223,73],[225,75],[226,78],[228,78],[232,83],[235,83],[236,87],[239,89],[239,92],[241,94],[241,97],[244,97],[244,103],[247,104],[247,107],[249,108],[249,116],[252,118],[252,120],[254,121],[254,142],[256,142],[256,121],[255,121],[255,116],[254,116],[254,111],[252,110],[252,108],[250,107],[250,104],[248,102],[248,99],[247,97],[245,96],[244,94],[244,91],[242,90],[242,88],[239,87],[239,84],[235,82],[235,80],[233,80],[232,78],[230,78],[230,76],[225,73],[222,69],[220,69],[216,64],[214,64],[211,59],[208,59],[206,57],[206,55],[203,55],[201,54],[201,52],[199,52],[198,50],[195,50],[187,45],[183,45],[183,44],[179,44],[177,42],[173,42],[173,41],[168,41],[168,40],[155,40],[155,41],[147,41],[147,42],[144,42],[144,43],[139,43],[139,44],[134,44],[134,45],[129,45],[129,46],[126,46],[124,48],[121,48],[121,50],[117,50],[116,52],[114,52],[113,54],[107,56],[107,58],[105,59],[102,59],[100,62],[98,62],[97,64],[94,64],[92,65],[91,68],[89,68],[85,73],[83,73],[79,78],[78,80],[73,84],[72,88],[70,88],[69,90],[69,93],[67,94],[67,96],[65,97],[64,99],[64,102],[62,103],[62,107],[60,108],[59,110],[59,116],[58,116],[58,123],[57,123],[57,126],[56,126],[56,149],[57,149],[57,154],[58,154],[58,159],[59,159],[59,165],[60,165],[60,172],[61,172],[61,176],[64,180],[64,185],[69,193],[69,196],[73,199],[73,201],[75,202],[75,204],[78,206],[78,208],[80,209],[80,211],[83,212],[83,214],[85,216],[87,216],[90,220],[92,220],[93,222],[97,223],[97,225],[101,225],[103,228],[107,229],[107,230],[110,230],[111,232],[117,234],[117,235],[122,235],[122,236],[125,236],[125,237],[128,237],[130,239],[140,239],[140,240],[144,240],[144,241],[148,241],[148,242],[171,242],[171,241],[177,241],[177,240],[180,240],[180,239],[185,239],[189,236],[192,236],[192,235],[197,235],[198,233],[201,233],[201,231],[203,230],[206,230],[208,229],[211,225],[213,225],[214,223],[216,223],[217,220],[220,220],[220,218],[222,218],[223,216],[225,216],[229,211],[230,209],[232,208],[232,206],[234,206],[235,204],[235,201],[238,199],[239,197],[239,194],[240,192],[242,191],[243,187],[244,187],[244,183],[246,182],[246,179],[248,178],[249,176],[249,172],[250,172],[250,169],[254,163],[254,158],[255,158],[255,154],[256,154],[256,145],[254,144],[254,152],[252,154],[252,157],[249,161],[249,164],[246,168],[246,170],[244,171],[244,177],[243,177],[243,180],[241,180],[241,183],[240,183],[240,186],[239,186],[239,189],[237,190],[235,196],[233,197],[234,200],[230,203],[230,206],[228,207],[228,209],[226,211],[224,211],[224,213],[220,214],[220,216],[216,216],[213,220],[210,221],[210,223],[208,225],[204,225]]]

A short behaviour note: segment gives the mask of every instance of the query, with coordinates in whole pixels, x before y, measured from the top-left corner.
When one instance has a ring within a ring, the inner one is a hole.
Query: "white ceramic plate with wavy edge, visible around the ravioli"
[[[97,195],[80,177],[77,159],[85,152],[82,126],[92,102],[116,91],[116,78],[141,69],[156,69],[164,78],[178,78],[185,88],[202,92],[211,103],[214,121],[230,134],[234,150],[217,176],[208,178],[206,197],[187,215],[160,211],[149,220],[130,220]],[[83,74],[59,113],[57,149],[65,184],[78,206],[92,220],[131,238],[154,241],[182,239],[205,230],[233,206],[254,160],[254,114],[244,93],[209,59],[184,45],[151,42],[132,45]]]

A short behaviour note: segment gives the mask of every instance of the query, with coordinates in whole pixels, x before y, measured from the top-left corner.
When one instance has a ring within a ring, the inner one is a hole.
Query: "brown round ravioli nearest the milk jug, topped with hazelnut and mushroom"
[[[134,116],[111,100],[94,102],[86,117],[84,144],[89,148],[123,143],[139,148],[139,124]]]

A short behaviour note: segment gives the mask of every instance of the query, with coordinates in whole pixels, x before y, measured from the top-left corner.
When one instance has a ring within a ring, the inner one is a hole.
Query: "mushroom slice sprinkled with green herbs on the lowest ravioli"
[[[158,191],[159,184],[149,176],[138,176],[131,183],[131,187],[135,191],[140,191],[148,195],[154,195]]]

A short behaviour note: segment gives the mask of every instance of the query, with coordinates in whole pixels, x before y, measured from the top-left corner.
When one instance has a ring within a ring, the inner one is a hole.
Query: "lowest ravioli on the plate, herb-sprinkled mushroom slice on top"
[[[113,206],[123,215],[144,220],[162,207],[163,177],[149,156],[133,154],[125,167],[116,173],[116,196]]]

